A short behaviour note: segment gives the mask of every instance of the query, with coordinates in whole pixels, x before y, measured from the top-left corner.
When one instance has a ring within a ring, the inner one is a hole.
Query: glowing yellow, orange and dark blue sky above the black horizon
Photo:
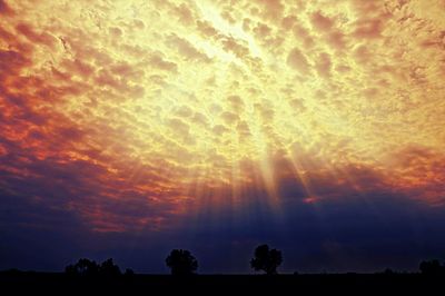
[[[0,269],[445,259],[444,0],[0,0]]]

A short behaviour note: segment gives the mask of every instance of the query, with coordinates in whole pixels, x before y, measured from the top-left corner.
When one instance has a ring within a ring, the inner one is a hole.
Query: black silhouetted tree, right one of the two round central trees
[[[269,249],[268,245],[260,245],[255,249],[255,257],[250,260],[250,267],[255,270],[264,270],[268,275],[275,275],[281,262],[280,250]]]

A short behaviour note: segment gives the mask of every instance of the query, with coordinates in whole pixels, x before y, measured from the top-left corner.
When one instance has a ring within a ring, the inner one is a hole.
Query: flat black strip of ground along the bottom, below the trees
[[[421,274],[322,275],[134,275],[115,278],[76,278],[65,274],[0,273],[2,295],[433,295],[443,292],[445,277]],[[0,292],[1,293],[1,292]],[[12,294],[11,294],[12,293]]]

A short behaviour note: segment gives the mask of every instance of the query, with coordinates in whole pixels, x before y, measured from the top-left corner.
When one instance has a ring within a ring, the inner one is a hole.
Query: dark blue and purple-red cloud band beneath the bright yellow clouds
[[[237,201],[231,188],[190,193],[196,198],[186,206],[188,214],[176,216],[172,226],[177,208],[165,203],[168,195],[102,182],[106,168],[87,161],[23,159],[16,144],[2,146],[16,152],[0,159],[0,268],[60,270],[81,256],[112,256],[137,272],[164,273],[166,254],[182,247],[199,258],[202,273],[247,273],[255,246],[268,243],[284,251],[284,272],[415,270],[421,259],[441,256],[445,247],[442,207],[394,189],[382,172],[363,166],[333,175],[312,165],[305,184],[280,156],[271,161],[277,207],[259,177],[240,189]],[[417,164],[431,154],[413,148],[400,161]],[[245,174],[255,176],[256,169],[251,161],[243,165]],[[316,197],[312,203],[308,189]]]

